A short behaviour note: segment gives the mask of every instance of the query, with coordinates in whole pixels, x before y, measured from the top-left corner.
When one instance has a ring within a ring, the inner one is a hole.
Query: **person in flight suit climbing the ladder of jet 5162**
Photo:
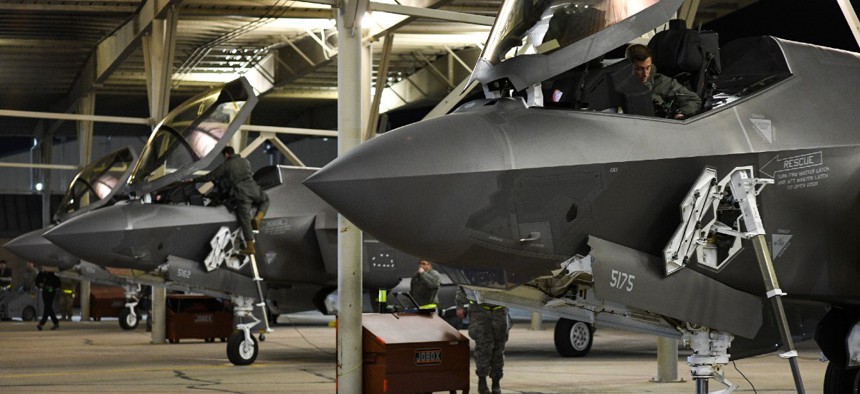
[[[236,218],[245,236],[245,248],[242,254],[255,254],[253,230],[260,229],[260,223],[266,210],[269,209],[269,196],[263,188],[254,181],[251,163],[236,154],[232,147],[226,146],[221,150],[224,162],[206,175],[194,178],[193,182],[218,182],[225,189],[226,199],[236,207]],[[257,214],[251,222],[251,207],[257,208]]]

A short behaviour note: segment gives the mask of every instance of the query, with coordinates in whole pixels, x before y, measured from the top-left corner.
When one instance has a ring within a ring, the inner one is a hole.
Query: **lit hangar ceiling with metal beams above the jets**
[[[698,3],[698,23],[753,2],[688,3]],[[384,48],[382,37],[392,32],[385,85],[399,83],[401,89],[411,91],[388,89],[395,92],[395,101],[439,100],[444,95],[439,92],[450,90],[468,75],[501,3],[371,1],[374,11],[366,23],[372,26],[368,42],[372,42],[374,80]],[[78,100],[92,93],[97,115],[148,118],[141,42],[152,34],[153,26],[162,26],[155,21],[165,18],[169,10],[176,21],[170,70],[174,102],[257,69],[275,87],[261,101],[268,105],[261,105],[259,114],[255,111],[256,120],[266,122],[272,117],[263,112],[278,112],[280,107],[296,110],[331,103],[337,98],[333,8],[337,6],[337,0],[2,1],[0,111],[75,112]],[[0,116],[0,135],[32,136],[38,127],[45,126],[36,118]],[[67,129],[74,132],[73,125]]]

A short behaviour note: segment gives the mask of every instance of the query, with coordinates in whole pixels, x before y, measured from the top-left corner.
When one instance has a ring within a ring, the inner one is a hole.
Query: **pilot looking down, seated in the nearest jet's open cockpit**
[[[672,77],[658,74],[651,63],[651,51],[642,44],[627,47],[625,57],[633,62],[633,74],[651,89],[654,113],[673,119],[685,119],[699,112],[702,99]]]

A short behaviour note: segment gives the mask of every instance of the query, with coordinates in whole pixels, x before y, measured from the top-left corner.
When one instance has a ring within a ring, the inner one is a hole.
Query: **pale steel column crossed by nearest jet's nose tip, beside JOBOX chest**
[[[366,1],[344,0],[337,13],[338,30],[338,156],[361,142],[361,29]],[[361,231],[338,215],[337,392],[360,393],[361,354]]]

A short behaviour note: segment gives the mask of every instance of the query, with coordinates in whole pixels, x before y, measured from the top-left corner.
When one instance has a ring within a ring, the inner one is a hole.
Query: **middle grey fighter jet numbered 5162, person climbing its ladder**
[[[301,182],[314,168],[269,166],[255,180],[271,201],[256,236],[256,261],[238,255],[236,216],[218,193],[202,195],[186,182],[215,164],[256,103],[240,78],[180,105],[153,131],[129,177],[134,198],[64,221],[45,234],[67,252],[104,267],[133,268],[176,284],[229,294],[239,325],[227,345],[231,362],[253,363],[257,321],[250,311],[259,298],[276,313],[327,311],[337,286],[337,213]],[[364,287],[390,289],[417,269],[416,257],[364,241]],[[264,280],[265,296],[254,292]],[[255,297],[256,296],[256,297]],[[369,301],[369,297],[368,297]],[[261,334],[261,340],[264,336]]]

